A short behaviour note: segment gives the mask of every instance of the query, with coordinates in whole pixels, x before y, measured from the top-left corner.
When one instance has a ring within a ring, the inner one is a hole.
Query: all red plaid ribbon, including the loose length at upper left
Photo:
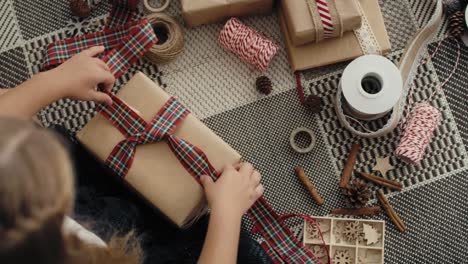
[[[103,60],[107,62],[116,78],[120,77],[157,41],[146,19],[133,20],[125,4],[134,0],[115,0],[106,28],[102,32],[52,43],[47,48],[44,69],[51,69],[73,55],[93,46],[106,48]],[[133,21],[132,21],[133,20]],[[162,107],[153,120],[147,123],[128,105],[114,95],[111,106],[99,106],[99,112],[124,136],[106,160],[106,163],[121,177],[132,166],[137,146],[165,141],[185,169],[200,182],[201,175],[214,180],[219,174],[203,151],[189,142],[173,135],[177,125],[190,113],[174,98]],[[284,225],[281,218],[262,197],[247,213],[261,233],[262,246],[275,263],[318,263],[310,250],[305,248]]]

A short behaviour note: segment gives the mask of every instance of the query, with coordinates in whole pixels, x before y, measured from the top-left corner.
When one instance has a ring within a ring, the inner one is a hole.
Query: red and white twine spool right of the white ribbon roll
[[[430,104],[416,105],[406,123],[395,155],[408,163],[420,162],[441,119],[440,111]]]

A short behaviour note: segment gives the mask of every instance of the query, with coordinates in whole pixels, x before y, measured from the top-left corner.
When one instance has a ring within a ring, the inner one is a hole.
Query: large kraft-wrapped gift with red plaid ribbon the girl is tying
[[[199,169],[219,172],[241,158],[142,73],[77,138],[179,227],[206,211],[204,192],[195,180]],[[194,157],[197,151],[204,154]],[[203,155],[209,162],[198,158]]]

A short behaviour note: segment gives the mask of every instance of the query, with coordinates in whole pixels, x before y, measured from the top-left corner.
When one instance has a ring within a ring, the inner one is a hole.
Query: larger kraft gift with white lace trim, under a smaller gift
[[[348,61],[365,54],[384,55],[391,51],[379,1],[350,1],[356,1],[361,12],[362,25],[358,30],[344,33],[342,38],[327,39],[320,43],[302,46],[294,46],[292,43],[284,19],[284,10],[280,11],[280,24],[293,71]]]

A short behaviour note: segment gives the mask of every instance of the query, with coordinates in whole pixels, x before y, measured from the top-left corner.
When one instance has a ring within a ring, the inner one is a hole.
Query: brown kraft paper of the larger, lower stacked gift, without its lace
[[[374,32],[383,54],[391,51],[390,40],[383,21],[378,0],[359,0],[366,14],[369,25]],[[320,43],[294,46],[284,21],[283,10],[280,11],[280,24],[283,30],[289,62],[293,71],[311,69],[338,62],[352,60],[364,55],[354,32],[344,33],[342,38],[327,39]]]

